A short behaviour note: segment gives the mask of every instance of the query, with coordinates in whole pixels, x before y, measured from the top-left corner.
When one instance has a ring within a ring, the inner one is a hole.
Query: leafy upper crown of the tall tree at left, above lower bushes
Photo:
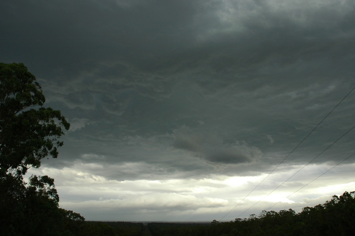
[[[59,110],[44,108],[42,89],[23,64],[0,64],[1,174],[15,178],[38,168],[48,155],[58,157],[58,139],[70,124]],[[37,108],[37,109],[34,109]]]

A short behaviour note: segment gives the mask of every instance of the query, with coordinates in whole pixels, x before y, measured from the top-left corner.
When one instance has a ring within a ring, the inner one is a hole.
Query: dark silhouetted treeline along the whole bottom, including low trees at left
[[[15,234],[10,234],[11,227],[7,226],[2,228],[2,235],[353,236],[355,232],[355,191],[345,192],[340,197],[334,195],[330,201],[305,207],[300,213],[292,209],[279,212],[264,210],[249,218],[230,222],[213,220],[210,224],[148,223],[144,226],[143,223],[85,221],[80,214],[58,208],[48,199],[24,206],[24,211],[14,208],[12,215],[9,215],[14,219],[16,214],[30,209],[30,214],[23,221],[16,221],[18,227],[15,222],[9,225]]]

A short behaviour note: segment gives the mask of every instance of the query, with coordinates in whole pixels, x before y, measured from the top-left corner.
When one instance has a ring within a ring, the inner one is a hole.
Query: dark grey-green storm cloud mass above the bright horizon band
[[[188,155],[258,170],[283,159],[353,86],[351,7],[350,1],[2,2],[1,60],[23,61],[47,104],[74,124],[63,160],[92,163],[83,158],[91,154],[111,164],[166,160],[169,169],[171,160]],[[290,160],[307,160],[304,153],[323,148],[315,145],[340,137],[353,108],[344,103],[328,129]],[[192,171],[183,161],[174,165]]]

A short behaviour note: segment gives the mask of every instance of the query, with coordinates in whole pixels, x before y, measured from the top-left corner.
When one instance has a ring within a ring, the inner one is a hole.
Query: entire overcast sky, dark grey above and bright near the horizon
[[[0,61],[71,123],[29,174],[87,220],[220,220],[354,88],[354,22],[353,0],[1,1]],[[353,156],[287,197],[355,152],[354,129],[317,157],[354,101],[222,221],[355,191]]]

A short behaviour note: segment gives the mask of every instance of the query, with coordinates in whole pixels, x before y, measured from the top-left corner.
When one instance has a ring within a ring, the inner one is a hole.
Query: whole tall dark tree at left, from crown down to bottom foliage
[[[60,234],[65,219],[54,179],[24,175],[47,156],[58,157],[70,124],[45,108],[34,75],[22,63],[0,63],[0,224],[3,235]],[[75,219],[77,220],[77,219]],[[83,220],[81,218],[80,220]]]

